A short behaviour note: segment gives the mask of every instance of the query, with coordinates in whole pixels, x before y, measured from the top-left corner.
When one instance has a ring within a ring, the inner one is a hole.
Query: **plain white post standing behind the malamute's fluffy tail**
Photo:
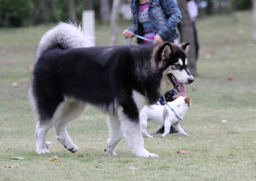
[[[82,12],[82,29],[84,34],[95,37],[95,12],[84,10]]]

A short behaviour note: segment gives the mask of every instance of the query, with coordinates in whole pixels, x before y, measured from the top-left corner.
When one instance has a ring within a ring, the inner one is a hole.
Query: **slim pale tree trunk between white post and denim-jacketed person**
[[[116,45],[117,36],[119,31],[119,9],[121,6],[120,0],[113,0],[113,6],[111,10],[110,16],[110,37],[109,37],[109,45]]]

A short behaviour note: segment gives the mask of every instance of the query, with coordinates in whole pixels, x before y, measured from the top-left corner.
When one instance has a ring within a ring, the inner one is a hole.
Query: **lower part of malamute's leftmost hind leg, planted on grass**
[[[37,154],[48,154],[50,151],[48,150],[49,145],[51,142],[46,141],[46,136],[49,129],[53,126],[53,124],[45,124],[40,125],[37,124],[37,129],[35,131],[35,138],[36,138],[36,152]]]

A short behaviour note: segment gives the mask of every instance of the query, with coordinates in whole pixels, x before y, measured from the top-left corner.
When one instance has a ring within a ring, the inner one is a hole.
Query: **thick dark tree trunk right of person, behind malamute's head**
[[[179,23],[180,26],[180,34],[183,42],[190,42],[191,46],[187,56],[189,58],[188,68],[192,75],[197,74],[196,69],[196,45],[195,45],[195,37],[194,37],[194,29],[193,24],[190,20],[189,13],[187,11],[187,1],[186,0],[178,0],[178,7],[182,14],[182,20]]]

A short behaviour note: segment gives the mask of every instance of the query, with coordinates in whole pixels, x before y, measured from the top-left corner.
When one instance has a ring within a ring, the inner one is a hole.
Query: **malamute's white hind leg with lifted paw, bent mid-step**
[[[65,108],[65,113],[61,116],[58,122],[55,123],[56,140],[58,140],[64,147],[72,153],[78,150],[78,147],[73,143],[66,130],[66,125],[76,119],[85,110],[85,106],[78,103],[70,103],[68,108]]]

